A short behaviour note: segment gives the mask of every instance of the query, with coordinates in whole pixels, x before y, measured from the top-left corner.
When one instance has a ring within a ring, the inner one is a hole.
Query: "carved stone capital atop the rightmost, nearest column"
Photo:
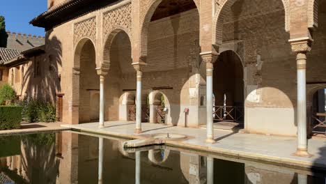
[[[290,39],[288,40],[288,42],[290,43],[293,52],[306,53],[311,51],[311,45],[313,43],[313,40],[309,37],[304,37]]]

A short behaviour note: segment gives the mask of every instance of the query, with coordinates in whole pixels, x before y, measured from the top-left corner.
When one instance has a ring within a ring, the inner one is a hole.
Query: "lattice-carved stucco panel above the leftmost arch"
[[[74,25],[74,45],[77,44],[80,38],[91,38],[96,41],[96,17],[91,17],[87,20],[77,22]]]

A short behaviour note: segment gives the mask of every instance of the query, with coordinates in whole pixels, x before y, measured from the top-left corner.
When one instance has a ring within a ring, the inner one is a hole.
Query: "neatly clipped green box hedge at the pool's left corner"
[[[22,107],[0,106],[0,130],[20,128]]]

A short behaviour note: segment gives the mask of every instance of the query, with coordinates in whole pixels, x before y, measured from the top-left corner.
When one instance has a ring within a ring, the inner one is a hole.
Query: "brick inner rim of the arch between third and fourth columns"
[[[223,21],[224,17],[227,16],[231,6],[235,3],[237,0],[224,0],[223,3],[220,4],[220,6],[217,7],[214,21],[213,21],[213,44],[222,45],[223,41]],[[281,0],[284,6],[285,11],[285,30],[290,31],[290,14],[289,14],[289,2],[288,0]]]

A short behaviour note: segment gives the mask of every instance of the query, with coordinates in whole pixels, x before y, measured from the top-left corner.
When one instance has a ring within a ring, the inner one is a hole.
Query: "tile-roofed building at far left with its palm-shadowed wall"
[[[49,59],[45,59],[45,38],[25,33],[8,33],[8,45],[0,48],[0,86],[10,84],[17,98],[55,100],[55,90],[48,77],[52,74]],[[49,91],[48,91],[49,90]],[[52,94],[54,93],[54,95]]]

